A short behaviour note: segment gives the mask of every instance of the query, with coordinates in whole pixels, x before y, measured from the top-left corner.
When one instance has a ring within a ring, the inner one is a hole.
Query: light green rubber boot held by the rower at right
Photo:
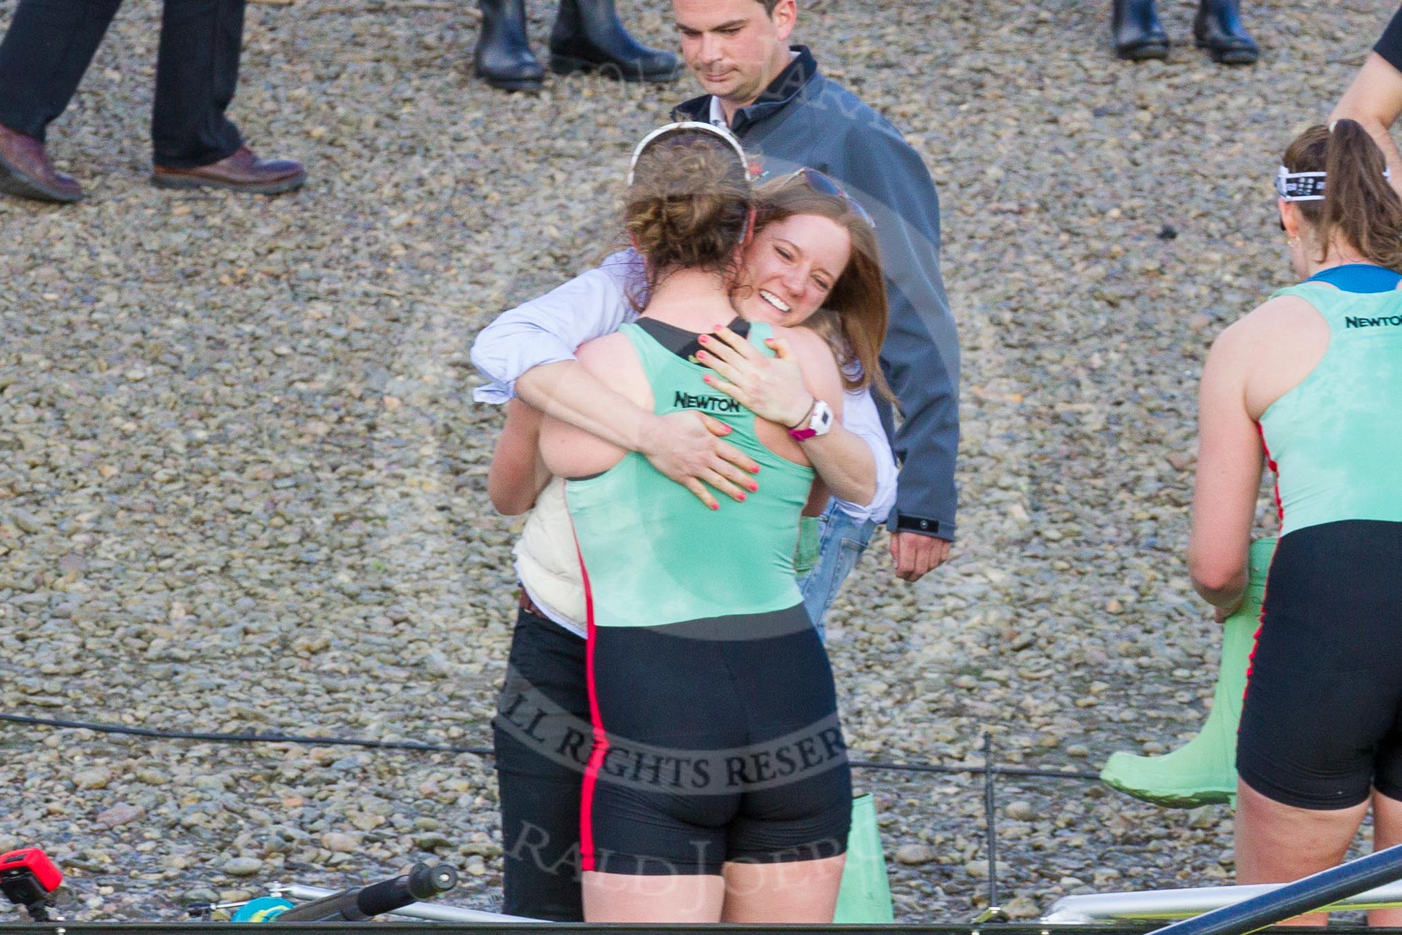
[[[1241,610],[1223,624],[1223,660],[1217,671],[1213,711],[1203,729],[1186,744],[1162,757],[1116,753],[1101,770],[1101,779],[1126,795],[1171,809],[1237,803],[1237,725],[1246,695],[1246,670],[1260,627],[1260,600],[1266,572],[1276,554],[1276,540],[1251,547],[1251,583]]]

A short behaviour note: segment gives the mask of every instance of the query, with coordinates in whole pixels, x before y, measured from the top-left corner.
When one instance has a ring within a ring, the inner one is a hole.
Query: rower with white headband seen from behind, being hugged
[[[564,422],[541,428],[547,467],[569,478],[589,607],[590,921],[816,922],[836,904],[851,779],[792,558],[801,512],[826,499],[802,440],[840,412],[844,385],[819,335],[736,318],[753,206],[746,164],[715,132],[642,149],[625,228],[648,262],[648,306],[578,355],[638,405],[729,426],[728,440],[761,467],[747,502],[707,509],[641,456]],[[880,327],[879,279],[866,292],[859,304]],[[799,367],[808,398],[792,425],[716,387],[701,360],[726,325],[753,353],[778,345]]]

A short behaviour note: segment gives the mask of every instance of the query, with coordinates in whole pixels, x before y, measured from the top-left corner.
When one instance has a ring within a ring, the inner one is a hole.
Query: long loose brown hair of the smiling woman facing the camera
[[[851,258],[833,283],[823,310],[803,322],[822,335],[843,362],[843,385],[848,391],[872,387],[886,400],[896,397],[886,385],[880,369],[880,346],[886,341],[886,283],[882,280],[880,252],[871,223],[838,195],[815,191],[803,178],[791,175],[758,188],[754,228],[798,214],[817,214],[840,224],[851,240]],[[855,360],[861,373],[845,364]]]

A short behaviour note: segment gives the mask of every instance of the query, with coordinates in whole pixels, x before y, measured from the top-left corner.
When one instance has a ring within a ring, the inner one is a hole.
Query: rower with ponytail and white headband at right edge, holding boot
[[[1370,803],[1374,847],[1402,844],[1402,200],[1385,171],[1353,121],[1290,144],[1276,186],[1304,282],[1203,367],[1187,561],[1218,620],[1242,600],[1263,465],[1281,526],[1237,744],[1239,883],[1339,864]]]

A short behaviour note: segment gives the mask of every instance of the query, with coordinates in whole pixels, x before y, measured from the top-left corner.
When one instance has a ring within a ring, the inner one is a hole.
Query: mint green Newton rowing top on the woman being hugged
[[[802,604],[794,547],[812,468],[764,447],[754,414],[701,380],[712,370],[679,357],[637,324],[620,331],[648,374],[653,412],[700,409],[732,426],[725,440],[758,463],[760,489],[743,503],[722,496],[721,509],[711,510],[635,451],[597,477],[566,481],[593,624],[658,627]],[[749,341],[773,356],[764,345],[770,334],[768,325],[751,324]]]

